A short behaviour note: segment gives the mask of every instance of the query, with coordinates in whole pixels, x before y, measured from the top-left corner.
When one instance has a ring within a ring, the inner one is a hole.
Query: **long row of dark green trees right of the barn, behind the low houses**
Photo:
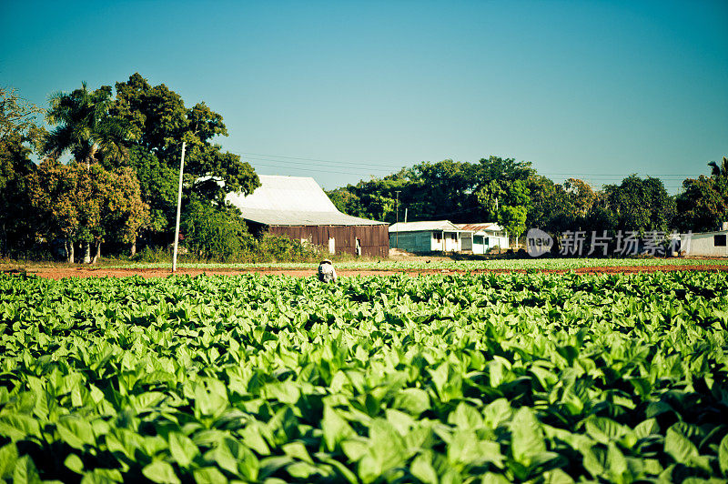
[[[352,216],[401,222],[406,208],[410,221],[498,222],[511,236],[527,228],[554,235],[573,230],[702,232],[728,221],[728,159],[708,166],[710,175],[685,179],[676,196],[652,176],[632,175],[619,185],[594,190],[575,177],[555,183],[530,162],[499,156],[422,162],[328,194]]]

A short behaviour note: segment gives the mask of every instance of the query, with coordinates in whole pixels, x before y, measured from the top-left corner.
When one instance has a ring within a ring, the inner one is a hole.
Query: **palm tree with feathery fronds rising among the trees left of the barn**
[[[123,121],[109,116],[112,102],[110,86],[89,91],[85,82],[70,94],[51,96],[45,117],[56,127],[45,138],[45,155],[57,159],[70,152],[87,170],[101,160],[119,162],[126,158],[130,131]],[[84,262],[91,262],[88,242],[84,244]]]

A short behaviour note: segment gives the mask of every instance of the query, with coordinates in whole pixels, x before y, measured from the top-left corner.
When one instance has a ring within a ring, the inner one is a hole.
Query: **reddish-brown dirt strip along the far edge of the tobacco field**
[[[570,270],[541,270],[544,273],[565,273],[576,272],[578,274],[634,274],[638,272],[672,272],[676,270],[695,270],[704,272],[728,272],[728,264],[725,266],[642,266],[642,267],[581,267]],[[310,269],[281,269],[277,267],[254,267],[249,269],[225,269],[225,268],[180,268],[177,276],[195,277],[200,274],[238,276],[255,272],[272,276],[311,277],[316,274],[316,267]],[[337,271],[342,277],[357,276],[391,276],[393,274],[407,274],[417,276],[420,274],[482,274],[482,273],[511,273],[528,272],[525,269],[477,269],[477,270],[456,270],[456,269],[398,269],[398,270],[357,270],[340,269]],[[5,271],[5,273],[17,273],[17,271]],[[35,274],[38,277],[60,279],[64,277],[168,277],[171,271],[164,268],[89,268],[89,267],[46,267],[28,268],[28,274]]]

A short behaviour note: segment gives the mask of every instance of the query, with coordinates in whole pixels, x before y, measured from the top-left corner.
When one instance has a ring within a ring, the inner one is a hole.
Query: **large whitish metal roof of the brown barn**
[[[260,187],[248,195],[227,194],[243,218],[267,226],[372,226],[384,222],[339,212],[310,176],[258,175]]]

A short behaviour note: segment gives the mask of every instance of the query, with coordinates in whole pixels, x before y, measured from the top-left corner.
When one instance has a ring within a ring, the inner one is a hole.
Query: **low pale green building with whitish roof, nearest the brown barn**
[[[467,232],[448,220],[399,222],[389,227],[389,247],[409,252],[460,252]]]

